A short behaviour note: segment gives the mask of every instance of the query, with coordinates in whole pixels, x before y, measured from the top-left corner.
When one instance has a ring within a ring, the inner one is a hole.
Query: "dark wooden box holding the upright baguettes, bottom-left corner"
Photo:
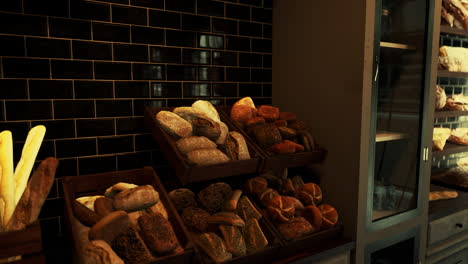
[[[39,221],[23,230],[0,233],[0,260],[15,256],[22,256],[21,260],[10,263],[45,263]]]

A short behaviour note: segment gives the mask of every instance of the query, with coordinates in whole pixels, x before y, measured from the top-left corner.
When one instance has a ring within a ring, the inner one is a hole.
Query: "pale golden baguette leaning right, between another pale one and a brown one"
[[[41,147],[45,132],[45,126],[35,126],[29,131],[28,137],[26,138],[23,152],[21,153],[21,159],[15,169],[15,206],[18,204],[26,189],[29,175],[36,161],[37,153]]]

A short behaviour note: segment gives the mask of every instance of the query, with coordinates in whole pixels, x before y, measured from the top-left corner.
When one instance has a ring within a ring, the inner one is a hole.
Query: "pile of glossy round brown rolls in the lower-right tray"
[[[331,228],[338,222],[335,208],[322,203],[320,187],[304,183],[300,175],[280,179],[265,174],[249,179],[245,190],[263,205],[269,219],[287,240]]]

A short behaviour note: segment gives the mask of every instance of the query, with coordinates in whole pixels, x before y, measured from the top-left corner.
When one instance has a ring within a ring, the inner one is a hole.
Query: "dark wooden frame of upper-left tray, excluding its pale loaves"
[[[172,111],[173,107],[146,107],[145,108],[145,124],[151,129],[153,138],[159,143],[164,152],[169,164],[174,169],[177,177],[183,185],[193,182],[201,182],[212,179],[221,179],[230,176],[254,173],[259,170],[262,165],[262,155],[252,146],[252,143],[246,139],[249,148],[251,159],[229,161],[216,165],[196,166],[190,165],[187,159],[179,152],[175,145],[176,140],[166,133],[158,125],[156,114],[159,111]],[[238,131],[231,122],[225,120],[220,114],[221,121],[226,123],[229,131]]]

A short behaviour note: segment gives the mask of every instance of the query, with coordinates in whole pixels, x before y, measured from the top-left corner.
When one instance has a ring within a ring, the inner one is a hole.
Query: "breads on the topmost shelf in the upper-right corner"
[[[467,0],[443,0],[441,15],[449,26],[468,30]]]

